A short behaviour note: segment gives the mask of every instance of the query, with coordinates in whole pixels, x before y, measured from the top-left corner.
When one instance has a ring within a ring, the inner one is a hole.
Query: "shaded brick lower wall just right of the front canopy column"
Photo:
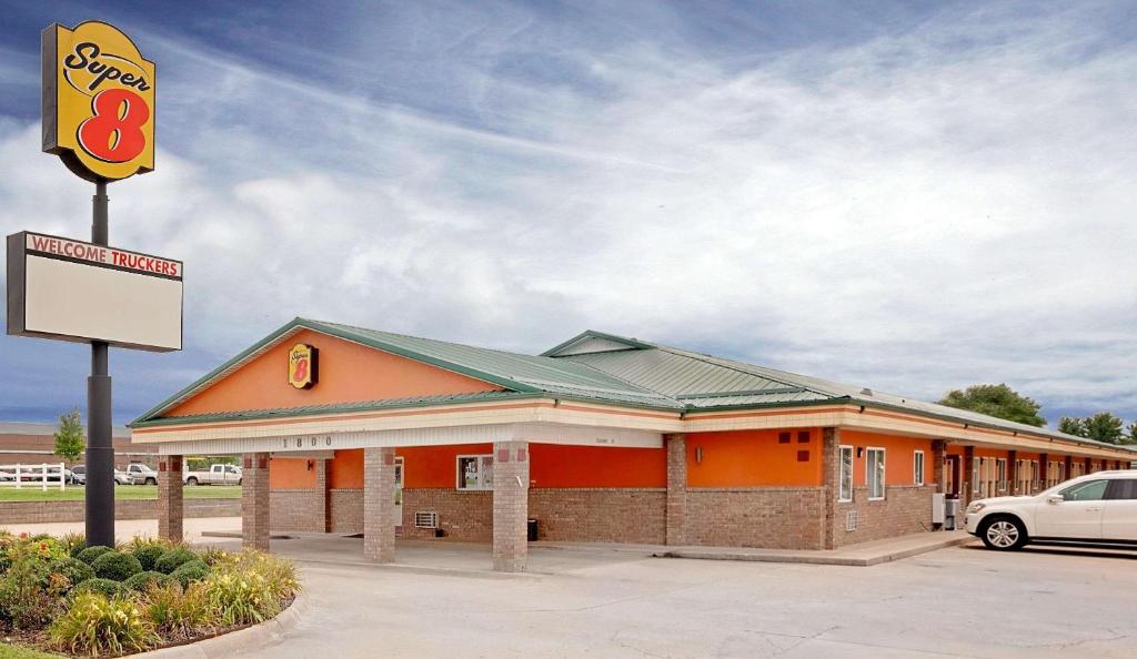
[[[529,491],[538,540],[663,544],[667,491],[650,489],[542,489]]]

